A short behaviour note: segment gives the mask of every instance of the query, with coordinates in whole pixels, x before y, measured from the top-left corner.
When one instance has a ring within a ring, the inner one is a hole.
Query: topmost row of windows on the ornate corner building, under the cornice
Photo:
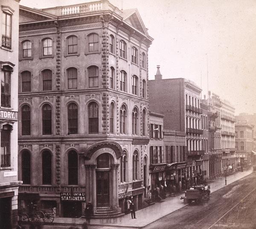
[[[71,35],[67,37],[66,44],[66,54],[73,55],[79,53],[79,44],[78,37],[75,35]],[[41,53],[42,56],[52,56],[52,39],[44,38],[41,42]],[[87,36],[87,52],[99,52],[99,35],[96,33],[89,34]],[[109,37],[109,52],[115,54],[115,38],[113,35]],[[119,41],[119,56],[121,58],[127,59],[127,44],[125,41]],[[21,58],[32,58],[32,42],[29,40],[23,41],[21,43]],[[139,56],[138,49],[135,46],[131,47],[131,62],[133,64],[139,64]],[[142,52],[142,60],[141,60],[142,68],[146,68],[146,55],[145,52]]]

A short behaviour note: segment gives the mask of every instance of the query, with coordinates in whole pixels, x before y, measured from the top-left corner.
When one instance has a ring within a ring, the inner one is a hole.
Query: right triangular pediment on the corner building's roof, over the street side
[[[147,29],[140,17],[140,14],[137,9],[126,9],[123,10],[120,16],[123,17],[123,20],[137,29],[138,31],[142,32],[145,35],[148,35]]]

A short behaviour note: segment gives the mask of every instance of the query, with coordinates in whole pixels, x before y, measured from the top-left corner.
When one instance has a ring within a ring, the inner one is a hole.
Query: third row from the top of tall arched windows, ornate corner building
[[[87,107],[88,112],[88,133],[99,133],[99,105],[95,101],[91,101]],[[67,133],[79,133],[79,107],[75,102],[67,105]],[[127,134],[128,121],[127,121],[127,107],[122,104],[119,111],[119,127],[120,133]],[[110,104],[110,133],[115,133],[115,105],[113,102]],[[21,135],[31,135],[31,107],[24,104],[21,107]],[[52,106],[48,103],[44,104],[41,108],[41,123],[42,134],[52,134]],[[146,136],[147,115],[145,109],[142,113],[142,135]],[[137,107],[132,110],[132,134],[139,135],[139,112]]]

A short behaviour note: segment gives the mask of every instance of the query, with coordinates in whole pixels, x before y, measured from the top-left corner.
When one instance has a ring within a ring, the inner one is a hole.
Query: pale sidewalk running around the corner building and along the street
[[[243,177],[252,173],[252,168],[248,171],[239,171],[235,174],[232,174],[227,177],[227,185],[235,182],[236,180],[240,180]],[[209,182],[211,193],[223,188],[225,186],[225,177],[218,178]],[[131,228],[143,228],[146,225],[153,223],[154,221],[169,215],[172,212],[177,211],[178,209],[183,208],[187,204],[183,203],[183,200],[180,200],[180,197],[184,194],[177,194],[175,197],[167,197],[161,203],[155,203],[151,206],[148,206],[144,209],[140,209],[136,212],[137,219],[131,219],[131,214],[123,215],[117,218],[110,219],[91,219],[90,225],[102,225],[102,226],[118,226],[118,227],[131,227]],[[154,214],[152,214],[154,212]],[[86,221],[84,218],[62,218],[55,217],[53,223],[57,224],[82,224]]]

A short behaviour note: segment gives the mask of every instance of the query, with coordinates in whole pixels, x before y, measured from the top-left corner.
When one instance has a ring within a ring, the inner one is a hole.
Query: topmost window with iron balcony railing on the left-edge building
[[[2,24],[2,47],[12,48],[12,15],[3,12]]]

